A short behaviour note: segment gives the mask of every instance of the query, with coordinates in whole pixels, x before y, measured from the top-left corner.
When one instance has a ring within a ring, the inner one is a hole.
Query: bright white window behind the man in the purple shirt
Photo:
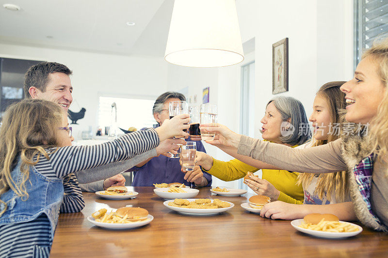
[[[98,125],[101,128],[114,124],[113,102],[117,106],[117,127],[125,130],[128,130],[129,127],[135,127],[140,130],[144,127],[153,127],[153,124],[156,123],[152,114],[155,102],[153,100],[100,97]],[[121,134],[122,132],[119,130],[117,133]]]

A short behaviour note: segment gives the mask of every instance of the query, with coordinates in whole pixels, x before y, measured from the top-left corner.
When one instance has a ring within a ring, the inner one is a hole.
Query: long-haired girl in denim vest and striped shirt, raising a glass
[[[84,206],[80,186],[69,175],[186,137],[188,117],[100,145],[71,146],[67,116],[57,104],[28,99],[10,106],[0,127],[0,257],[49,257],[60,210]]]

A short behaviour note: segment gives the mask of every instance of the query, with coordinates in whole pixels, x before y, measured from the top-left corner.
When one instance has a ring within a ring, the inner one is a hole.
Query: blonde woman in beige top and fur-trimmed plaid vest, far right
[[[355,76],[341,86],[346,103],[341,138],[303,150],[238,135],[225,127],[202,125],[218,132],[214,143],[236,148],[265,163],[298,172],[348,170],[349,190],[357,218],[366,226],[388,231],[388,38],[368,49]],[[278,153],[282,153],[281,156]],[[267,205],[261,215],[278,217]]]

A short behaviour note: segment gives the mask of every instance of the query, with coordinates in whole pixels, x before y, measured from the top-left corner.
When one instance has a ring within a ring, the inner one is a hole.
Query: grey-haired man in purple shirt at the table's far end
[[[186,101],[186,97],[179,92],[167,91],[160,95],[152,108],[155,120],[158,126],[161,126],[163,121],[169,119],[168,106],[172,101]],[[186,141],[192,141],[189,138]],[[196,149],[201,152],[206,152],[201,141],[196,142]],[[181,172],[181,166],[178,158],[171,158],[168,154],[158,157],[148,158],[144,162],[137,164],[132,168],[134,170],[133,186],[152,186],[153,183],[172,183],[179,182],[188,186],[210,186],[211,175],[202,171],[196,166],[195,172],[184,179],[185,174]]]

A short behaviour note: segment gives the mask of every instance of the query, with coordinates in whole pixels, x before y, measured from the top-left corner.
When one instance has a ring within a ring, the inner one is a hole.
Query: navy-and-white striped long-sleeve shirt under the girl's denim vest
[[[64,179],[65,197],[61,212],[77,212],[84,203],[73,172],[127,160],[159,143],[158,134],[150,128],[100,145],[47,149],[49,159],[39,156],[34,167],[48,178]],[[34,159],[36,161],[37,157]],[[0,226],[0,257],[49,257],[51,244],[50,224],[45,214],[33,221]]]

